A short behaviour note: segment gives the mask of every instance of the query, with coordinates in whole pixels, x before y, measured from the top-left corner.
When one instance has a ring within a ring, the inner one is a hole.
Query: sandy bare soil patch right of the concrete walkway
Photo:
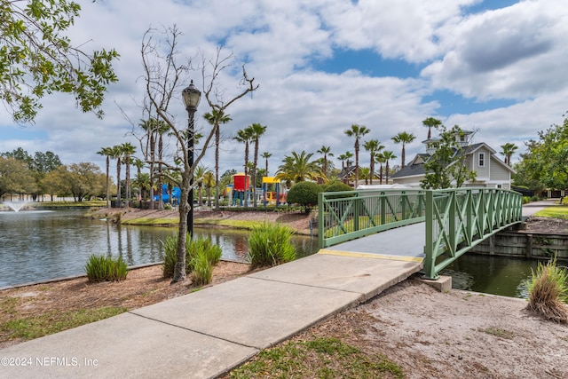
[[[296,338],[341,338],[384,354],[407,378],[568,378],[568,327],[525,306],[409,279]]]

